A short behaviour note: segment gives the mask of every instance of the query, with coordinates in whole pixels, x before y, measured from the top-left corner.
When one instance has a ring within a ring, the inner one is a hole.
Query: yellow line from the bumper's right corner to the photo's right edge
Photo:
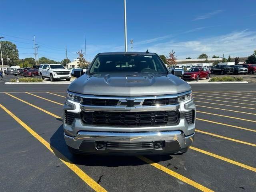
[[[198,148],[195,148],[195,147],[192,147],[192,146],[190,146],[190,149],[195,150],[195,151],[198,151],[198,152],[201,152],[201,153],[204,153],[204,154],[206,154],[206,155],[212,156],[212,157],[217,158],[217,159],[220,159],[220,160],[222,160],[222,161],[226,161],[226,162],[228,162],[228,163],[231,163],[231,164],[240,166],[240,167],[242,167],[242,168],[245,168],[245,169],[248,169],[248,170],[251,170],[251,171],[256,172],[256,168],[254,168],[254,167],[251,167],[251,166],[242,164],[242,163],[240,163],[240,162],[236,162],[236,161],[234,161],[234,160],[231,160],[231,159],[222,157],[222,156],[220,156],[220,155],[216,155],[216,154],[214,154],[214,153],[211,153],[211,152],[208,152],[208,151],[204,151],[204,150],[202,150],[202,149],[198,149]]]

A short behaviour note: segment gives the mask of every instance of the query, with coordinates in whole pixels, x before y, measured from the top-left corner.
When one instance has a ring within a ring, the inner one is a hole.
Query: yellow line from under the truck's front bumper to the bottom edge
[[[152,161],[152,160],[150,160],[150,159],[148,159],[144,156],[138,156],[138,158],[140,160],[154,166],[155,168],[169,174],[170,176],[173,176],[173,177],[175,177],[175,178],[177,178],[177,179],[179,179],[179,180],[181,180],[181,181],[183,181],[183,182],[185,182],[185,183],[187,183],[187,184],[189,184],[189,185],[191,185],[195,188],[198,188],[201,191],[213,192],[209,188],[206,188],[205,186],[202,186],[201,184],[198,184],[197,182],[194,182],[193,180],[190,180],[189,178],[186,178],[186,177],[184,177],[184,176],[182,176],[182,175],[180,175],[180,174],[178,174],[178,173],[176,173],[176,172],[174,172],[174,171],[172,171],[172,170],[170,170],[170,169],[168,169],[168,168],[166,168],[166,167],[164,167],[164,166],[162,166],[162,165],[160,165],[160,164],[158,164],[158,163],[156,163],[156,162],[154,162],[154,161]]]

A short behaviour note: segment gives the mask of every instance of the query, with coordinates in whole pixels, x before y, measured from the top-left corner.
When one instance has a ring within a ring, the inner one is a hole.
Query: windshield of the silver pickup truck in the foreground
[[[98,55],[91,65],[90,74],[110,72],[167,73],[157,55]]]

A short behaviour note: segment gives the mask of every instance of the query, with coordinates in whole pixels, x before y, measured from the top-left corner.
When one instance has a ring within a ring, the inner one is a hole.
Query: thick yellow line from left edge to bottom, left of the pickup
[[[50,145],[46,140],[44,140],[40,135],[38,135],[34,130],[32,130],[28,125],[26,125],[22,120],[20,120],[17,116],[15,116],[12,112],[6,109],[2,104],[0,107],[8,113],[14,120],[16,120],[22,127],[24,127],[32,136],[34,136],[38,141],[40,141],[50,152],[55,154],[68,168],[70,168],[75,174],[77,174],[86,184],[88,184],[93,190],[97,192],[106,192],[106,190],[100,186],[97,182],[95,182],[90,176],[88,176],[85,172],[83,172],[76,164],[73,164],[68,160],[64,155],[62,155],[58,150],[56,150],[53,146]]]

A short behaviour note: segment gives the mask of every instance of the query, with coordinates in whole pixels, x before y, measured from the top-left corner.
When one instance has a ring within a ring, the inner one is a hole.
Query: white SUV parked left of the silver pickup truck
[[[42,64],[38,72],[40,78],[50,78],[50,81],[56,79],[66,79],[69,81],[71,78],[70,70],[65,69],[64,66],[60,64]]]

